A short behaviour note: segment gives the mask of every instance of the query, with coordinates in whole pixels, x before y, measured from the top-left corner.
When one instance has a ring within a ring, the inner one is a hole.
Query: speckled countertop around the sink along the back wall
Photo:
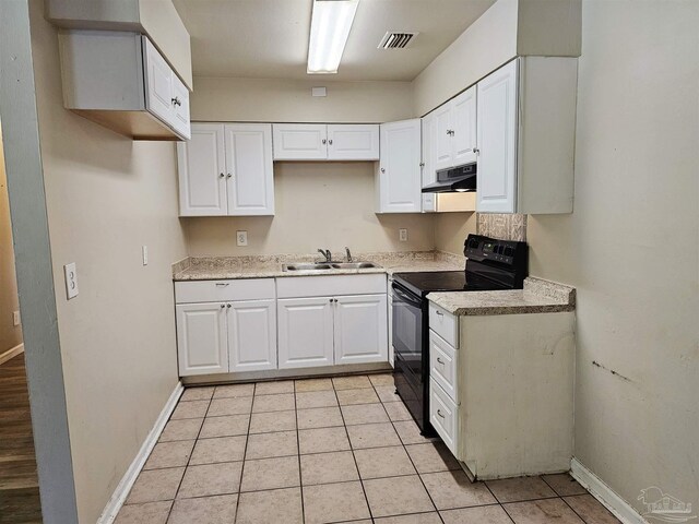
[[[355,261],[374,262],[380,267],[365,270],[283,271],[283,264],[315,262],[313,254],[262,257],[190,257],[173,264],[174,281],[218,281],[227,278],[273,278],[287,276],[356,275],[370,273],[460,271],[465,258],[441,251],[402,253],[357,253]]]

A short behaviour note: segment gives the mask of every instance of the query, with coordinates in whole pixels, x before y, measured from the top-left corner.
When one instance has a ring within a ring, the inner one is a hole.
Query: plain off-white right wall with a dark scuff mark
[[[531,273],[578,288],[576,456],[696,511],[699,2],[582,14],[574,212],[530,216]]]

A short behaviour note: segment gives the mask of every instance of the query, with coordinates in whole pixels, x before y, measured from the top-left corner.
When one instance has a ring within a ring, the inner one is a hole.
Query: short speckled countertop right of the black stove
[[[457,315],[554,313],[574,311],[573,287],[530,276],[511,291],[430,293],[427,298]]]

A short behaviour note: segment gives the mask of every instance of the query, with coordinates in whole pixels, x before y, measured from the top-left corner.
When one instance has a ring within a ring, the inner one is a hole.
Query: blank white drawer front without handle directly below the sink
[[[279,298],[334,297],[386,293],[386,274],[289,276],[276,279]]]

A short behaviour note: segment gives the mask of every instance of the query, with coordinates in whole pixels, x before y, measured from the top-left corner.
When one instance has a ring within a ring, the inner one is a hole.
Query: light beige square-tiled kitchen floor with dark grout
[[[472,484],[390,374],[189,388],[116,524],[612,524],[566,475]]]

